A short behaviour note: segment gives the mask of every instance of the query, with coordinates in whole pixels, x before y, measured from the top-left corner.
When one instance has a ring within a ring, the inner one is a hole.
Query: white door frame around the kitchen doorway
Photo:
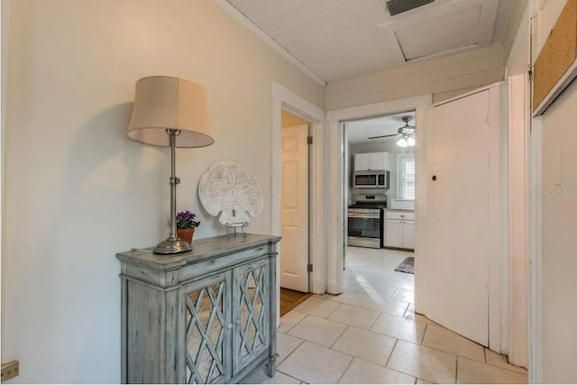
[[[326,223],[327,231],[330,234],[331,242],[326,243],[327,255],[327,282],[326,291],[330,294],[339,294],[343,292],[343,243],[344,243],[344,229],[346,218],[346,205],[344,204],[344,129],[343,121],[353,119],[363,119],[372,116],[391,115],[403,111],[414,110],[415,121],[419,127],[425,127],[424,109],[431,105],[433,96],[426,94],[422,96],[413,96],[403,99],[390,100],[387,102],[374,103],[371,105],[359,105],[348,108],[341,108],[337,110],[328,111],[327,116],[327,130],[326,130],[326,171],[327,191],[331,191],[326,195]],[[417,130],[417,149],[418,133],[422,130]],[[417,151],[418,152],[418,151]],[[417,154],[416,154],[417,157]],[[416,158],[416,167],[419,169],[419,160]],[[417,172],[418,185],[418,172]],[[334,194],[334,192],[337,192]],[[416,202],[420,199],[423,202],[425,196],[417,194]],[[422,198],[422,199],[421,199]],[[416,206],[417,209],[417,206]],[[416,210],[416,215],[418,212]],[[422,221],[421,221],[422,222]],[[416,239],[415,239],[415,259],[417,259],[417,252],[422,248],[418,247],[420,243],[418,235],[424,234],[419,231],[418,222],[416,224]],[[416,293],[417,293],[417,287]]]

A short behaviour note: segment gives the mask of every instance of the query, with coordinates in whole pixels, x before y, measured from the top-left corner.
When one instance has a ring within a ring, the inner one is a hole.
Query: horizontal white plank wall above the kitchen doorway
[[[433,102],[438,103],[503,80],[503,58],[497,45],[331,81],[326,86],[325,108],[329,111],[426,94],[433,94]]]

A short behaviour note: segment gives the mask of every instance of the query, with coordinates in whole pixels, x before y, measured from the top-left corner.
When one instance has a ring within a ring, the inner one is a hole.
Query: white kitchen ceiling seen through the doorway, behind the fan
[[[346,134],[350,144],[360,144],[368,142],[389,142],[392,138],[369,139],[371,136],[390,135],[398,133],[398,128],[403,127],[403,116],[410,116],[409,125],[415,126],[415,111],[377,116],[367,119],[346,122]]]

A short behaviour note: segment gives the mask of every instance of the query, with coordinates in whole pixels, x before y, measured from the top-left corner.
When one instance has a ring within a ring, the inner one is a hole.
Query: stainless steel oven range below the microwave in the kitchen
[[[384,195],[358,195],[347,210],[347,244],[380,249],[384,240]]]

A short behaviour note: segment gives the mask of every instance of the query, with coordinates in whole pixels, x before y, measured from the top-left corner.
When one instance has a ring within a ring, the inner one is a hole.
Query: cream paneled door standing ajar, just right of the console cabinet
[[[282,128],[280,287],[308,292],[308,126]]]

